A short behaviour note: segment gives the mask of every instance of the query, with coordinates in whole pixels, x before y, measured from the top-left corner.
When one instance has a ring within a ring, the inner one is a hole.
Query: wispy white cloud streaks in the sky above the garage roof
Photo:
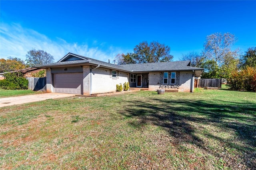
[[[18,57],[25,60],[27,51],[32,48],[42,49],[54,56],[55,61],[61,59],[68,52],[84,55],[101,61],[112,61],[122,49],[110,46],[103,50],[99,47],[89,47],[87,43],[67,43],[62,38],[50,40],[47,36],[31,30],[22,28],[20,24],[1,23],[0,28],[0,58]],[[99,43],[97,40],[95,43]],[[104,42],[101,42],[104,43]]]

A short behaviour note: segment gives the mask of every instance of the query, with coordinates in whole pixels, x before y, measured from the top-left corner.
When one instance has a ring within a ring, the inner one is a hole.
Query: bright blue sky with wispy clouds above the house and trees
[[[234,49],[256,47],[256,1],[0,1],[0,58],[32,48],[102,61],[142,41],[171,48],[174,61],[201,51],[206,36],[230,32]]]

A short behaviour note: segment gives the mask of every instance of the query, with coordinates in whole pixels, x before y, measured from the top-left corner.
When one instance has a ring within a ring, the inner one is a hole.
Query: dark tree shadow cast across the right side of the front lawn
[[[137,122],[131,123],[134,127],[141,127],[147,123],[163,127],[174,137],[174,144],[190,143],[198,146],[206,152],[220,156],[220,151],[210,149],[204,141],[195,135],[196,127],[188,122],[212,125],[220,128],[221,132],[235,132],[234,139],[225,139],[212,134],[207,129],[201,130],[201,134],[207,138],[213,138],[225,148],[235,148],[246,153],[242,158],[248,168],[256,168],[254,161],[256,152],[256,104],[244,101],[244,103],[227,101],[206,100],[173,100],[173,99],[149,99],[149,101],[128,101],[128,107],[120,114],[125,117],[136,117]],[[204,132],[202,132],[204,131]],[[236,140],[244,144],[238,144]],[[233,161],[236,161],[233,159]]]

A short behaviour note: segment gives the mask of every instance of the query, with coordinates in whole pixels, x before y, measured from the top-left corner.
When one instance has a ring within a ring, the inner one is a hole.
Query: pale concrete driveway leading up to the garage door
[[[63,97],[71,97],[74,94],[66,93],[42,93],[37,95],[26,95],[26,96],[17,96],[17,97],[5,97],[0,98],[0,107],[20,105],[23,103],[31,103],[35,101],[43,101],[47,99],[58,99]]]

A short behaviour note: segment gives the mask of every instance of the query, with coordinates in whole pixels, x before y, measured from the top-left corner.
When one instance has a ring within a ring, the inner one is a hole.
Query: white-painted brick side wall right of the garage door
[[[110,74],[111,73],[111,74]],[[112,77],[112,70],[97,68],[92,70],[92,94],[116,91],[116,84],[128,82],[129,73],[119,71],[118,78]]]

